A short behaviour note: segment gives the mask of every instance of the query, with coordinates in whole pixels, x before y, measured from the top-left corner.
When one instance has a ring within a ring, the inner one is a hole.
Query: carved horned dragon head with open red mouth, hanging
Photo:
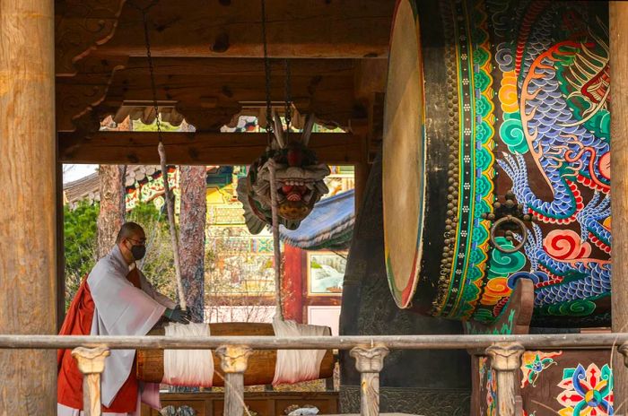
[[[279,221],[289,230],[295,230],[307,217],[314,204],[329,191],[323,179],[330,171],[318,163],[316,154],[307,145],[315,117],[309,115],[301,134],[287,135],[279,117],[274,113],[275,138],[266,153],[250,167],[247,178],[238,183],[238,199],[244,205],[244,216],[249,230],[257,234],[272,223],[270,195],[270,166],[275,163],[277,212]],[[294,138],[293,140],[286,140]]]

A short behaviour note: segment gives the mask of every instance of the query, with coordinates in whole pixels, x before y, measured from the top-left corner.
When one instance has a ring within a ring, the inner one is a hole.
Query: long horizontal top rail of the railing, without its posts
[[[468,350],[495,342],[518,342],[527,348],[607,349],[628,342],[621,334],[535,335],[374,335],[374,336],[95,336],[0,334],[0,349],[58,350],[106,346],[113,350],[213,350],[225,344],[245,344],[254,350],[351,350],[371,342],[389,350]]]

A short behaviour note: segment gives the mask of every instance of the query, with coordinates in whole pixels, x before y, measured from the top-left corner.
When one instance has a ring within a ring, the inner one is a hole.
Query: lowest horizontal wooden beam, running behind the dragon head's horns
[[[59,133],[64,163],[159,164],[154,132],[98,132],[85,138]],[[248,165],[266,150],[266,133],[166,133],[168,162],[174,165]],[[328,164],[361,162],[359,138],[346,133],[314,133],[310,148]]]

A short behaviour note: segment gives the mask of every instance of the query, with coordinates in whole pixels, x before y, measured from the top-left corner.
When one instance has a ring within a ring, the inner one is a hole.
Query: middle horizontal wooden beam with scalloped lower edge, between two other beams
[[[96,107],[152,100],[145,57],[102,64],[91,56],[79,66],[76,76],[57,77],[57,131],[74,131],[76,120]],[[324,122],[346,126],[361,105],[354,100],[354,66],[349,59],[292,60],[295,106]],[[155,58],[154,67],[158,100],[174,103],[197,130],[215,131],[239,112],[240,103],[266,100],[262,59]],[[271,67],[271,97],[283,100],[284,62],[272,60]]]

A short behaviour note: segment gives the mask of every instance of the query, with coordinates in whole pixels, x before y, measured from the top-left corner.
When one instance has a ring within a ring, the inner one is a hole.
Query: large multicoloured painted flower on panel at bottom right
[[[605,364],[602,369],[595,363],[585,369],[563,370],[563,381],[558,384],[563,393],[556,400],[563,405],[561,416],[610,416],[613,414],[613,372]]]

